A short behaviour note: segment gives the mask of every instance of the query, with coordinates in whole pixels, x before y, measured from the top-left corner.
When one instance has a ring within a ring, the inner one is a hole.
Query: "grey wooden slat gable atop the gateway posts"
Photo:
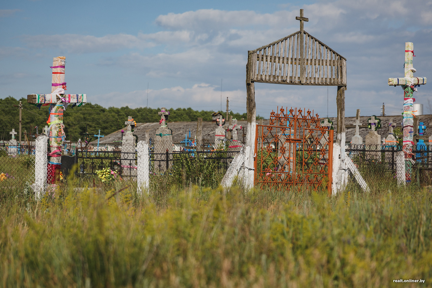
[[[300,31],[269,45],[249,51],[252,54],[250,81],[293,85],[346,85],[346,58]],[[299,57],[304,49],[304,61]],[[254,61],[255,60],[255,61]],[[304,63],[301,65],[301,63]]]

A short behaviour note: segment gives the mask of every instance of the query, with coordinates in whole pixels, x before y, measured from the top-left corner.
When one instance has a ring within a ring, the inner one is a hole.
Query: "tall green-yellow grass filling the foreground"
[[[431,285],[426,188],[377,185],[363,194],[350,184],[330,198],[199,186],[116,193],[125,185],[70,180],[40,202],[28,192],[3,197],[0,284],[401,287],[393,279],[411,278]]]

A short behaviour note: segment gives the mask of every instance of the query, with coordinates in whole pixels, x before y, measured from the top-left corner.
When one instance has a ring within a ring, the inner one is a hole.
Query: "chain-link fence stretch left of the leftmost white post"
[[[0,190],[22,190],[35,182],[35,146],[0,146]]]

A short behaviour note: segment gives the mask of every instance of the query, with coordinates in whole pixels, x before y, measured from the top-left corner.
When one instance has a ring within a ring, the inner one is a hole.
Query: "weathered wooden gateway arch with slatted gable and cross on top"
[[[345,167],[345,90],[346,90],[346,58],[336,53],[317,38],[303,30],[303,17],[300,9],[300,31],[282,39],[248,51],[246,64],[246,109],[248,112],[248,131],[246,144],[248,151],[246,165],[254,164],[256,143],[256,106],[255,82],[289,85],[337,86],[337,143],[340,154],[339,167],[335,173],[339,185],[344,186],[347,180]],[[332,147],[329,148],[332,150]],[[336,155],[335,155],[336,156]],[[247,172],[248,187],[253,186],[254,171]],[[329,181],[330,182],[330,181]],[[335,193],[333,186],[333,193]]]

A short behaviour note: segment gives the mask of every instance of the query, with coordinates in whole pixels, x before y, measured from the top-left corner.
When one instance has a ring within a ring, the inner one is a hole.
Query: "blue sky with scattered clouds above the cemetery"
[[[65,56],[67,92],[93,104],[225,111],[229,97],[243,113],[248,50],[298,31],[300,8],[305,31],[347,59],[346,116],[380,115],[383,102],[400,115],[388,78],[403,77],[405,42],[414,76],[432,81],[431,0],[2,0],[0,98],[51,93],[52,58]],[[432,113],[432,83],[418,90]],[[256,83],[255,99],[264,118],[277,106],[337,115],[335,86]]]

